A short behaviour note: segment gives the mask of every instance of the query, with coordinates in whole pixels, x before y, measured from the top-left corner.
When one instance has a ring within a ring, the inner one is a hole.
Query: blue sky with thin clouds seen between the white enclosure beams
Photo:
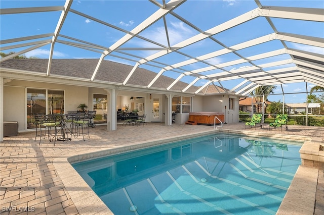
[[[159,1],[161,3],[161,1]],[[6,1],[2,0],[0,7],[3,8],[24,8],[24,7],[46,7],[46,6],[63,6],[65,1]],[[278,7],[306,7],[306,8],[324,8],[324,1],[260,1],[263,6],[278,6]],[[223,0],[223,1],[187,1],[183,3],[180,7],[174,10],[178,16],[188,20],[194,26],[199,29],[206,31],[213,28],[223,22],[226,22],[236,16],[247,13],[251,10],[256,9],[258,6],[254,1],[233,1],[233,0]],[[153,14],[157,7],[148,1],[73,1],[72,7],[80,13],[85,13],[96,19],[100,19],[106,23],[116,26],[120,29],[126,31],[131,31],[141,22],[143,22],[147,17]],[[60,17],[61,12],[46,12],[46,13],[33,13],[33,14],[13,14],[13,15],[1,15],[1,40],[19,38],[23,36],[39,35],[52,33],[55,30],[57,21]],[[301,20],[289,20],[289,19],[279,19],[271,18],[274,26],[279,32],[287,32],[292,34],[300,34],[305,36],[313,37],[324,37],[324,25],[322,22],[309,22]],[[177,44],[180,41],[188,39],[196,34],[198,31],[186,25],[180,19],[175,16],[167,15],[166,22],[168,25],[168,33],[170,37],[171,46]],[[259,17],[252,21],[243,23],[221,33],[218,33],[214,38],[221,41],[227,46],[232,46],[241,42],[248,41],[257,37],[268,35],[273,33],[273,29],[268,24],[265,18]],[[83,16],[76,15],[74,13],[69,13],[65,23],[60,31],[60,34],[69,37],[76,38],[78,40],[87,41],[90,43],[98,44],[104,47],[109,47],[115,43],[118,39],[125,35],[124,32],[110,28],[94,20],[88,19]],[[163,20],[158,20],[156,23],[148,27],[146,30],[139,34],[145,38],[153,41],[157,41],[160,44],[167,44],[166,31],[164,28]],[[49,37],[51,38],[51,37]],[[68,38],[59,37],[61,40],[70,41]],[[75,41],[74,41],[75,42]],[[323,48],[315,46],[307,46],[299,43],[287,42],[289,48],[295,48],[300,50],[312,51],[315,53],[324,54]],[[132,39],[121,48],[137,48],[137,47],[147,47],[156,48],[159,47],[153,43],[149,43],[140,38]],[[15,51],[18,52],[22,48],[16,48],[12,50],[6,50],[4,52]],[[179,51],[187,53],[192,57],[198,57],[205,55],[206,53],[213,52],[215,50],[222,49],[220,44],[217,44],[211,39],[201,40],[190,46],[183,47]],[[250,57],[258,55],[266,51],[276,50],[284,48],[279,41],[271,41],[263,44],[259,44],[253,47],[238,50],[237,52],[245,57]],[[45,45],[43,47],[34,49],[30,52],[25,53],[26,57],[34,56],[38,58],[48,58],[50,51],[50,45]],[[121,50],[127,52],[129,55],[138,56],[140,58],[145,58],[152,55],[158,50]],[[135,65],[135,63],[140,60],[140,58],[130,57],[125,55],[123,52],[113,52],[113,55],[119,57],[131,58],[132,61],[125,60],[123,58],[116,58],[113,56],[107,56],[105,60],[111,60],[123,64]],[[70,45],[56,43],[53,58],[57,59],[83,59],[83,58],[100,58],[101,51],[89,51],[86,49],[76,48]],[[222,56],[211,58],[207,60],[210,64],[220,64],[232,60],[236,60],[238,57],[233,53],[228,53]],[[280,55],[272,59],[259,60],[259,64],[267,63],[267,61],[280,61],[290,59],[288,55]],[[188,58],[180,53],[173,52],[172,54],[162,56],[155,59],[156,62],[151,62],[150,65],[141,65],[142,68],[151,70],[153,72],[159,72],[160,67],[163,66],[159,63],[167,62],[167,64],[172,65],[179,63]],[[201,67],[207,67],[208,65],[203,63],[194,63],[173,71],[167,71],[164,75],[176,78],[179,72],[184,70],[192,71]],[[233,70],[237,68],[242,68],[246,66],[251,66],[249,64],[240,64],[225,68],[227,70]],[[284,65],[282,67],[290,67],[292,65]],[[269,70],[277,69],[269,68]],[[202,75],[209,75],[211,73],[221,72],[218,70],[213,70],[205,72]],[[182,81],[190,82],[194,77],[186,76]],[[235,79],[230,81],[221,82],[225,88],[231,89],[240,83],[244,79]],[[202,86],[206,81],[201,80],[196,83],[198,86]],[[217,84],[217,83],[216,83]],[[308,84],[308,89],[310,89],[313,84]],[[290,83],[283,85],[285,93],[294,92],[305,92],[305,83]],[[281,93],[281,87],[276,88],[276,93]],[[272,97],[272,96],[271,96]],[[273,100],[282,100],[282,96],[273,96]],[[305,102],[306,95],[304,94],[294,94],[287,95],[285,98],[286,102]]]

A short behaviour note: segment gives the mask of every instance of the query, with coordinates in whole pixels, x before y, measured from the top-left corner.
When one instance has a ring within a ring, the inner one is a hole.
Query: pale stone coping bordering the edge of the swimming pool
[[[130,144],[126,144],[126,145],[117,146],[115,148],[109,147],[106,149],[102,149],[102,148],[97,149],[97,150],[94,149],[93,151],[88,152],[88,153],[74,154],[74,155],[72,154],[72,155],[55,158],[53,160],[53,165],[54,165],[55,170],[57,171],[58,176],[61,178],[65,189],[67,190],[68,194],[70,195],[71,200],[73,201],[76,209],[78,210],[78,212],[80,214],[85,214],[85,213],[87,213],[87,214],[113,214],[113,212],[100,199],[100,197],[91,189],[91,187],[86,183],[86,181],[74,170],[74,168],[71,166],[71,163],[75,162],[76,160],[94,159],[94,158],[102,157],[105,155],[113,155],[113,154],[120,153],[123,151],[126,152],[126,151],[130,151],[130,150],[134,150],[134,149],[142,149],[145,147],[162,145],[162,144],[166,144],[168,142],[174,142],[174,141],[179,141],[179,140],[183,140],[183,139],[194,138],[197,136],[208,135],[208,134],[213,134],[213,133],[217,133],[217,132],[244,134],[244,135],[249,135],[249,136],[268,137],[268,138],[274,138],[274,139],[288,138],[291,141],[311,141],[311,138],[307,137],[307,136],[265,134],[265,133],[260,133],[257,131],[254,132],[254,131],[218,129],[218,130],[213,130],[213,131],[196,132],[196,133],[192,133],[190,135],[177,135],[177,136],[167,138],[167,139],[160,138],[160,139],[154,139],[154,140],[141,141],[141,142],[137,142],[137,143],[130,143]],[[100,153],[98,154],[98,152],[100,152]],[[94,157],[93,156],[94,154],[96,154],[97,156]],[[306,167],[303,167],[303,168],[306,168]],[[294,179],[295,179],[297,173],[298,173],[298,171],[296,172]],[[318,170],[317,170],[317,173],[318,173]],[[293,179],[293,181],[294,181],[294,179]],[[317,180],[317,176],[316,176],[316,180]],[[293,183],[293,181],[292,181],[292,183]],[[291,184],[291,186],[292,186],[292,184]],[[288,192],[290,191],[290,187],[287,190],[286,195],[288,195]],[[315,195],[315,192],[316,192],[316,186],[315,186],[315,190],[314,190],[314,195]],[[284,200],[286,198],[286,195],[284,197]],[[294,195],[292,195],[292,196],[294,196]],[[315,197],[313,199],[315,199]],[[282,208],[286,208],[286,205],[289,205],[288,204],[289,202],[284,204],[284,202],[286,202],[284,200],[282,200],[282,202],[277,210],[277,214],[285,214],[285,213],[281,213],[281,211],[279,212],[281,205],[282,205]],[[314,200],[314,202],[315,202],[315,200]]]

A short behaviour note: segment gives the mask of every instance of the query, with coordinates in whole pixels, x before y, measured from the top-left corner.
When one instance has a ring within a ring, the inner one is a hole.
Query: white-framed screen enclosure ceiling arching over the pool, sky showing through
[[[147,88],[162,75],[174,78],[166,90],[184,82],[182,92],[195,86],[199,94],[215,86],[238,95],[262,85],[324,87],[323,8],[322,1],[2,1],[0,48],[15,53],[0,62],[48,50],[48,76],[52,59],[91,58],[95,81],[109,60],[132,66],[122,85],[144,68],[156,73]]]

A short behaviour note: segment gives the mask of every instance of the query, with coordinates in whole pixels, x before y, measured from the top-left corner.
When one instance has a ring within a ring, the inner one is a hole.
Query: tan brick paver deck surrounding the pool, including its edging
[[[245,128],[244,123],[224,124],[217,130],[267,135],[285,139],[305,138],[324,144],[324,127],[289,126],[280,129]],[[95,155],[107,149],[136,147],[138,143],[158,142],[212,132],[214,126],[166,126],[147,123],[143,126],[117,125],[90,128],[90,139],[53,142],[34,141],[35,132],[4,137],[0,143],[0,213],[1,214],[112,214],[67,162],[79,154]],[[100,152],[99,152],[100,151]],[[76,156],[79,155],[79,156]],[[28,209],[29,211],[24,211]],[[300,166],[277,214],[324,214],[324,171]]]

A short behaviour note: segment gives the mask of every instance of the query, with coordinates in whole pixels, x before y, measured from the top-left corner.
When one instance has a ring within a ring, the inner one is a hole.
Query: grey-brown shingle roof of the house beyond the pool
[[[78,77],[91,79],[93,71],[98,64],[98,59],[53,59],[51,66],[51,74],[66,76],[69,78]],[[22,71],[47,73],[48,59],[10,59],[0,63],[1,68],[10,68]],[[112,61],[103,61],[99,72],[94,81],[121,84],[126,79],[133,66],[120,64]],[[156,73],[137,68],[136,73],[131,76],[127,84],[146,87],[155,77]],[[154,84],[153,88],[166,89],[174,79],[161,76]],[[181,91],[187,86],[187,83],[179,81],[171,90]],[[211,88],[215,88],[212,86]],[[186,92],[195,92],[199,88],[191,86]],[[224,91],[224,90],[223,90]],[[204,90],[203,90],[204,92]],[[216,90],[207,93],[217,93]]]

